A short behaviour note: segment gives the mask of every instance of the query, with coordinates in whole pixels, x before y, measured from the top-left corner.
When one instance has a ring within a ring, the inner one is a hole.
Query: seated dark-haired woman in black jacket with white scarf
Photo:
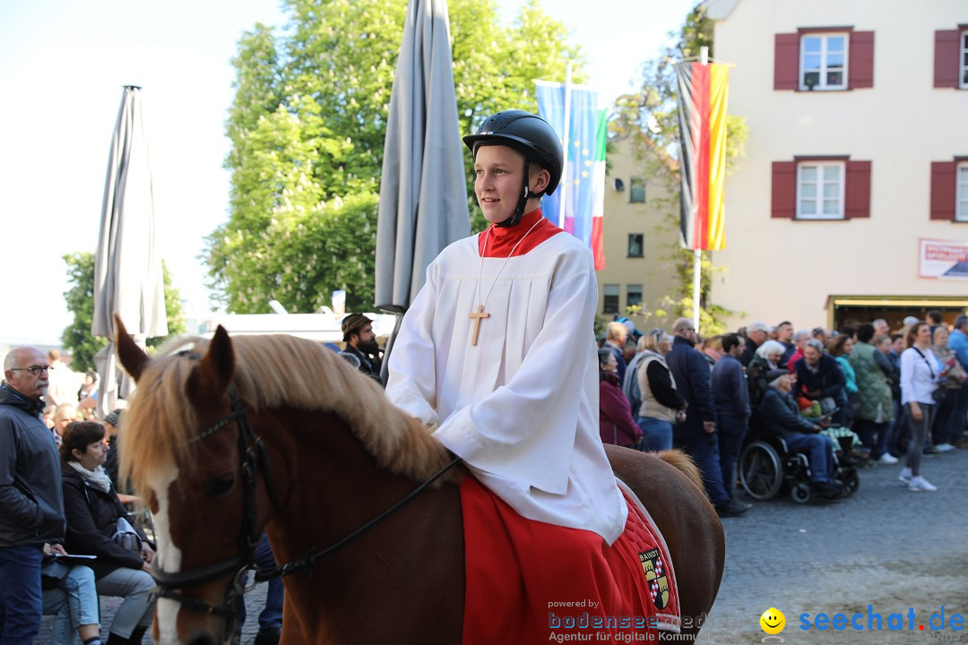
[[[155,551],[118,500],[103,467],[107,451],[104,425],[85,421],[67,426],[61,444],[67,545],[73,553],[97,556],[89,566],[99,594],[124,598],[107,645],[140,643],[154,615],[150,565]],[[119,540],[127,533],[135,533],[130,542],[137,551]]]

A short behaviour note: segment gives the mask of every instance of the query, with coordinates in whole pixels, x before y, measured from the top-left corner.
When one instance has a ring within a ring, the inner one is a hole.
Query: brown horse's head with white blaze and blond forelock
[[[214,645],[231,636],[234,599],[272,512],[269,458],[231,386],[235,353],[223,327],[207,343],[149,357],[115,322],[118,357],[139,386],[122,469],[154,514],[156,639]]]

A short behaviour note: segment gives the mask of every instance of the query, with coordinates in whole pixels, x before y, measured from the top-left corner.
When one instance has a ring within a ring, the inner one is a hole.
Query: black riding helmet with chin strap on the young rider
[[[528,189],[529,162],[539,163],[548,171],[551,179],[542,194],[552,194],[558,189],[561,180],[561,166],[564,155],[561,153],[561,142],[558,132],[547,121],[530,112],[520,109],[508,109],[489,117],[476,134],[464,137],[464,143],[470,148],[474,159],[477,159],[477,149],[481,146],[507,146],[517,150],[525,157],[525,180],[518,199],[518,207],[514,215],[501,221],[496,226],[514,226],[525,215],[530,192]]]

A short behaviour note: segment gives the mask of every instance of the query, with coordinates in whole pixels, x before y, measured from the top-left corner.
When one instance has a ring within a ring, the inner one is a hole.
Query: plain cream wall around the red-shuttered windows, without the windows
[[[716,59],[730,74],[731,114],[749,128],[726,180],[728,272],[712,299],[745,312],[732,322],[825,325],[834,294],[943,295],[968,281],[918,277],[918,240],[968,241],[968,224],[931,221],[931,161],[968,155],[968,91],[933,88],[934,31],[968,23],[965,0],[717,0]],[[773,91],[773,38],[800,27],[874,32],[874,87]],[[872,161],[869,220],[771,220],[771,162],[850,155]]]

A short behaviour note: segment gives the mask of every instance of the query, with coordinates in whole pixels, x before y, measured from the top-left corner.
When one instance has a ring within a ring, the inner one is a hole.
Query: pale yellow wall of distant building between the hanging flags
[[[604,247],[605,268],[598,272],[598,313],[609,320],[612,313],[603,313],[606,284],[619,284],[619,314],[625,315],[627,286],[643,285],[643,306],[654,310],[661,299],[672,293],[674,272],[665,260],[670,249],[679,245],[678,229],[673,229],[667,214],[679,213],[679,202],[674,194],[670,198],[668,185],[676,181],[668,167],[654,155],[643,153],[632,140],[623,139],[613,143],[609,150],[610,170],[605,179]],[[638,158],[638,155],[645,157]],[[645,203],[631,203],[631,178],[643,177],[646,182]],[[624,184],[617,191],[615,180]],[[643,257],[628,257],[629,233],[643,234]],[[632,318],[640,330],[654,326],[653,317]]]

